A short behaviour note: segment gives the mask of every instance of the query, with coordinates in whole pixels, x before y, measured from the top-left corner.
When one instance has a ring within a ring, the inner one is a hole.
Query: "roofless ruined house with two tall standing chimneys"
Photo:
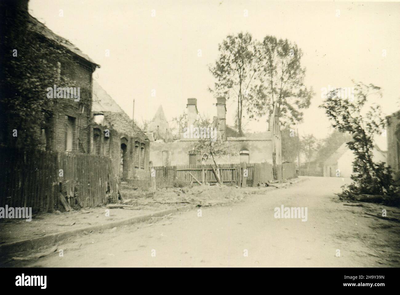
[[[265,132],[245,136],[240,136],[236,130],[226,125],[225,98],[217,99],[216,109],[217,116],[214,117],[213,125],[230,146],[230,155],[218,158],[218,163],[268,162],[274,165],[282,163],[280,124],[276,106]],[[190,130],[193,126],[196,127],[198,118],[196,98],[188,98],[186,112],[187,128]],[[194,153],[197,140],[197,138],[185,138],[182,134],[180,140],[174,142],[151,142],[150,161],[155,166],[202,163],[201,155]]]

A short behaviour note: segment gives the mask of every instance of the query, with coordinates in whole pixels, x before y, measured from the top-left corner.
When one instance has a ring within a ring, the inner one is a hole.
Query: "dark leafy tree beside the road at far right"
[[[341,98],[340,92],[333,90],[327,94],[320,108],[332,121],[332,127],[340,132],[348,132],[352,140],[347,143],[354,152],[354,174],[351,176],[353,183],[344,186],[343,194],[346,196],[371,194],[390,195],[398,194],[398,187],[393,185],[390,167],[385,163],[376,163],[372,158],[374,148],[373,138],[375,134],[381,134],[384,130],[384,119],[381,107],[372,105],[366,107],[368,96],[374,94],[382,97],[379,87],[373,84],[355,85],[355,97]]]

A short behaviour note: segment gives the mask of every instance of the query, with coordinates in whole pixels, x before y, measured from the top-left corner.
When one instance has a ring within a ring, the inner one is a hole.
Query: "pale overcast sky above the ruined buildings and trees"
[[[321,88],[328,85],[373,83],[384,90],[378,103],[386,114],[400,109],[399,3],[31,0],[29,9],[101,65],[94,79],[131,117],[135,98],[138,122],[150,120],[160,104],[171,120],[193,97],[199,112],[215,116],[207,65],[218,57],[218,43],[240,31],[259,40],[287,38],[303,50],[305,82],[316,94],[298,126],[300,135],[324,138],[330,132],[318,109]],[[233,125],[235,103],[228,101],[227,108]],[[246,123],[250,131],[266,130],[266,118]]]

